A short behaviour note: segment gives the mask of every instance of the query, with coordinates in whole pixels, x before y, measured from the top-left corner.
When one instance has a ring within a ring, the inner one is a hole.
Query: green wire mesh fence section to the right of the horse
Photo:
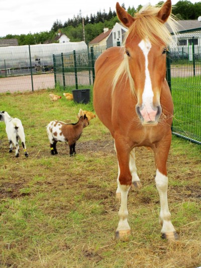
[[[201,144],[201,28],[181,31],[167,55],[167,81],[174,103],[172,132]]]

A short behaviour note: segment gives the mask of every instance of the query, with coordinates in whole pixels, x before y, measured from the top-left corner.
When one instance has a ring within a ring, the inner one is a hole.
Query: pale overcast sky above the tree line
[[[21,35],[50,31],[58,19],[62,23],[77,16],[81,10],[82,16],[96,14],[97,11],[108,13],[115,10],[118,0],[1,0],[0,5],[0,37],[7,34]],[[123,0],[119,3],[137,8],[149,3],[154,6],[159,0]],[[172,0],[172,5],[178,0]],[[191,0],[191,3],[199,0]],[[137,4],[135,4],[137,3]]]

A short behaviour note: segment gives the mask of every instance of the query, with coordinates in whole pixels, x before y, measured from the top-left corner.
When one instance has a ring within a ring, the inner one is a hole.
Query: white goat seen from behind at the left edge
[[[4,121],[6,124],[6,132],[10,143],[9,152],[13,151],[13,143],[16,147],[16,157],[19,157],[19,138],[22,141],[22,146],[24,148],[25,156],[28,157],[28,152],[25,145],[25,133],[22,122],[18,118],[12,118],[10,115],[2,111],[0,112],[0,121]]]

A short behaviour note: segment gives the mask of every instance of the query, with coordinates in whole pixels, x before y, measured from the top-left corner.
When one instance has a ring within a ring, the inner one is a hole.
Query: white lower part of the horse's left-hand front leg
[[[116,230],[116,237],[125,237],[130,234],[130,226],[128,223],[128,209],[127,209],[127,200],[130,186],[121,185],[119,183],[119,188],[121,190],[121,206],[119,210],[119,223]]]

